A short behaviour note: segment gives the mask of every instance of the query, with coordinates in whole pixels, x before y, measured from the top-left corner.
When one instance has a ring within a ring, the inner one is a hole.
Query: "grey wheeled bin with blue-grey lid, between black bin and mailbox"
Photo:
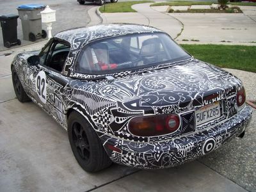
[[[35,42],[38,38],[46,38],[47,33],[42,30],[41,14],[45,8],[43,4],[22,4],[18,6],[19,18],[22,24],[23,39]]]

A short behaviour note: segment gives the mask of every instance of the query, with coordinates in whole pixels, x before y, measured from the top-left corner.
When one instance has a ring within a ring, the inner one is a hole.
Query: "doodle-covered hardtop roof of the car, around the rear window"
[[[61,73],[63,76],[81,80],[100,80],[105,79],[106,77],[122,77],[130,74],[135,74],[138,72],[145,72],[147,70],[170,67],[170,65],[173,65],[174,63],[179,63],[180,60],[175,60],[171,63],[160,62],[145,67],[134,67],[130,68],[129,70],[126,69],[113,72],[109,71],[108,73],[81,73],[76,70],[77,58],[79,58],[82,49],[85,49],[86,47],[91,45],[91,43],[94,44],[96,42],[100,42],[101,40],[118,38],[120,36],[143,34],[165,34],[169,36],[164,31],[161,31],[150,26],[138,24],[100,24],[97,26],[91,26],[87,28],[73,28],[61,31],[60,33],[54,35],[51,38],[51,40],[49,40],[49,42],[44,46],[40,54],[46,49],[47,46],[54,44],[54,42],[60,42],[61,44],[69,45],[70,48],[67,54],[67,58],[65,59],[65,63],[63,63],[63,67],[59,71],[59,73]],[[67,52],[67,50],[63,51]],[[189,59],[188,61],[190,61],[191,56],[189,55],[189,58],[186,58],[186,60],[187,59]]]

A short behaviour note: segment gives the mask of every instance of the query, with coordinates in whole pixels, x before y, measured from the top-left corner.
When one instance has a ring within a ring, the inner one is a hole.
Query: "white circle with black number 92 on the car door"
[[[40,71],[37,76],[36,76],[36,93],[39,97],[39,99],[43,102],[46,103],[47,96],[46,96],[46,88],[47,88],[47,83],[46,83],[46,76],[44,71]]]

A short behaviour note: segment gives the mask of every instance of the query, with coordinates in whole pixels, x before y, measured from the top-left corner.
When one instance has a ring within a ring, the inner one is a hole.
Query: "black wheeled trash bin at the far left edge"
[[[20,45],[20,40],[17,38],[18,17],[19,15],[0,16],[4,47],[10,48],[12,45]]]

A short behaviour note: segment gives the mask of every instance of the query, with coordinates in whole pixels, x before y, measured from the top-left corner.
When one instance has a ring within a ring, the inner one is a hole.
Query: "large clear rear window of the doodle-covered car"
[[[109,74],[189,58],[164,33],[136,34],[106,38],[82,49],[76,71],[82,74]]]

